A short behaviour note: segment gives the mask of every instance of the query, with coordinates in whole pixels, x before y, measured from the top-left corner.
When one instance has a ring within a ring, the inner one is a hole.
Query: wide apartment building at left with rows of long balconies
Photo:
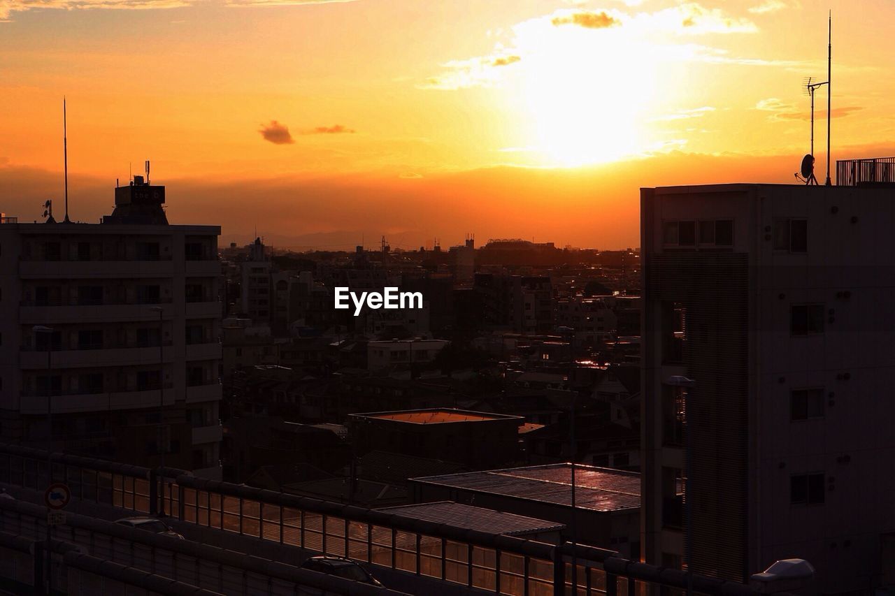
[[[220,476],[220,227],[167,225],[164,192],[136,176],[101,224],[0,223],[3,440],[46,447],[49,399],[55,451]]]

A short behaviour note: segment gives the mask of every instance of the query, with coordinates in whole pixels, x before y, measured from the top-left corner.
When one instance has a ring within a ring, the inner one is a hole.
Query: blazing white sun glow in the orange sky
[[[615,161],[649,145],[655,50],[622,27],[528,21],[516,28],[530,146],[547,165]]]

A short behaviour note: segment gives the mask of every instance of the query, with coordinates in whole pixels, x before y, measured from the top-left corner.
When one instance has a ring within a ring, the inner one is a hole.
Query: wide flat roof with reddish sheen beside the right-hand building
[[[572,506],[570,464],[445,474],[411,481],[561,507]],[[575,507],[601,512],[640,507],[640,474],[575,464]]]

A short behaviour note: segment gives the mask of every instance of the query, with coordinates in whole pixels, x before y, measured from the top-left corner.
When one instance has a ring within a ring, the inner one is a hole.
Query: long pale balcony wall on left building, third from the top
[[[170,342],[167,342],[170,345]],[[99,349],[53,350],[50,361],[54,369],[76,369],[83,367],[127,366],[158,362],[158,345],[155,346],[108,346]],[[171,350],[163,346],[164,362],[171,362]],[[47,351],[24,349],[19,353],[22,370],[44,370],[47,368]]]

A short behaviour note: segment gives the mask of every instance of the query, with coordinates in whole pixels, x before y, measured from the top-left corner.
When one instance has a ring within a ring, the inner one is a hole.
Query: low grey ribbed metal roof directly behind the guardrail
[[[566,527],[564,524],[543,519],[508,514],[452,501],[386,507],[381,511],[411,519],[422,519],[435,524],[447,524],[465,530],[478,530],[509,536],[535,532],[558,532]]]

